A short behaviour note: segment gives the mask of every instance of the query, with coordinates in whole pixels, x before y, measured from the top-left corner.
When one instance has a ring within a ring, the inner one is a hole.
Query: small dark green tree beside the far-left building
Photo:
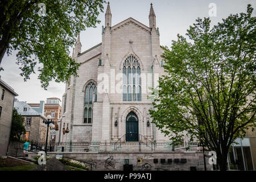
[[[11,121],[11,140],[20,140],[20,136],[26,132],[25,127],[23,126],[24,118],[22,115],[18,114],[17,110],[13,110],[13,120]]]

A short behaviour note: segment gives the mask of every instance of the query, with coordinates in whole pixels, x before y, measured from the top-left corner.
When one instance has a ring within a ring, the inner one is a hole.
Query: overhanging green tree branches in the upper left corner
[[[97,16],[103,3],[105,0],[1,1],[0,64],[5,53],[18,51],[16,64],[24,81],[38,70],[44,89],[51,80],[68,81],[71,75],[77,76],[79,64],[69,57],[69,48],[79,32],[100,22]]]

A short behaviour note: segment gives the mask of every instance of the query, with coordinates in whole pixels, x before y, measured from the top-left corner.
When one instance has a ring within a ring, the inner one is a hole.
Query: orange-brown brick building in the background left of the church
[[[34,110],[42,113],[45,117],[51,115],[54,121],[55,128],[51,129],[50,141],[55,142],[56,138],[59,137],[59,118],[61,114],[61,100],[56,97],[47,98],[46,103],[40,101],[40,104],[28,104]]]

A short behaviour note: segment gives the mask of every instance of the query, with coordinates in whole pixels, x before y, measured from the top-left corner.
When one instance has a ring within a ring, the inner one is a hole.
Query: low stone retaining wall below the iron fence
[[[57,152],[48,152],[47,155],[56,157]],[[189,171],[191,167],[204,170],[202,152],[63,152],[64,157],[83,160],[93,164],[92,170],[123,170],[125,162],[133,164],[134,171]],[[35,154],[29,154],[34,158]],[[142,159],[142,163],[138,163]],[[212,170],[205,157],[207,170]],[[90,168],[90,166],[88,166]]]

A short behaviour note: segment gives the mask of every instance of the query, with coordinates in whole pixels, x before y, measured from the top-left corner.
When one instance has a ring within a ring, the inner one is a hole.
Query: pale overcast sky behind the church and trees
[[[160,45],[171,46],[171,40],[176,40],[177,34],[185,35],[189,25],[195,23],[197,17],[203,18],[209,16],[210,3],[216,4],[216,16],[210,16],[212,25],[221,22],[222,18],[227,18],[229,14],[246,12],[247,4],[256,7],[255,0],[110,0],[110,9],[112,12],[112,26],[132,17],[139,22],[148,26],[148,14],[150,12],[150,3],[153,3],[156,14],[156,26],[159,27]],[[90,47],[101,43],[101,26],[105,24],[105,4],[104,13],[99,15],[101,20],[97,24],[97,28],[88,28],[81,32],[82,52]],[[47,13],[47,4],[46,4]],[[254,10],[254,16],[255,16]],[[70,48],[72,51],[72,48]],[[72,52],[70,53],[70,55]],[[39,103],[46,101],[48,97],[58,97],[62,99],[65,90],[64,83],[51,82],[48,90],[44,90],[40,86],[38,75],[31,75],[31,79],[27,82],[19,76],[20,70],[15,64],[15,53],[11,56],[3,57],[1,66],[5,71],[1,71],[1,79],[19,94],[19,101],[27,101],[29,103]]]

